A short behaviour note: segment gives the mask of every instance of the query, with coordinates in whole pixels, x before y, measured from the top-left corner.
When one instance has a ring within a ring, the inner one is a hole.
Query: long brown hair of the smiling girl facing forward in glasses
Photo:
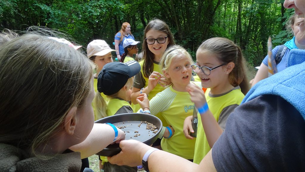
[[[145,41],[146,33],[150,29],[154,29],[156,31],[160,31],[160,32],[167,34],[167,39],[169,42],[167,47],[175,44],[174,36],[171,33],[170,28],[164,21],[159,20],[159,19],[154,19],[154,20],[151,20],[147,24],[147,26],[144,29],[144,38],[143,38],[143,44],[142,44],[142,51],[144,52],[143,60],[145,60],[144,64],[143,64],[143,73],[144,73],[144,76],[147,78],[153,71],[153,59],[154,59],[154,54],[148,49],[147,43]]]

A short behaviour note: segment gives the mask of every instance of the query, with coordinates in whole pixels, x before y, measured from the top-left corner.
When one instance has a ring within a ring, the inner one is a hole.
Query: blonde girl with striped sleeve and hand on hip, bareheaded
[[[190,81],[192,64],[192,57],[184,48],[178,45],[171,46],[160,60],[163,75],[170,80],[170,86],[153,97],[149,103],[142,101],[142,97],[138,98],[139,104],[143,106],[145,103],[145,107],[149,106],[152,115],[160,113],[174,129],[174,134],[170,134],[168,138],[162,138],[162,150],[191,161],[194,157],[196,139],[185,138],[183,122],[186,117],[193,114],[195,108],[186,88],[188,85],[201,86],[200,82]],[[169,130],[169,128],[167,129]]]

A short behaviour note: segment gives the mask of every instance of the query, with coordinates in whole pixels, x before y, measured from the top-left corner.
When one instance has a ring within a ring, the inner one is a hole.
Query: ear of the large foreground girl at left
[[[69,135],[73,135],[76,125],[77,125],[77,117],[76,117],[77,107],[73,107],[69,110],[68,114],[65,117],[65,130]]]

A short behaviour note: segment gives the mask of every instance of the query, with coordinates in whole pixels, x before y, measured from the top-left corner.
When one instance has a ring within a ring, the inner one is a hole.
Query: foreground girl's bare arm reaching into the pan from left
[[[117,127],[116,127],[117,128]],[[113,143],[125,139],[124,131],[118,129],[118,136],[114,140],[114,129],[107,124],[95,123],[88,137],[80,144],[70,147],[75,152],[81,152],[81,159],[92,156]]]

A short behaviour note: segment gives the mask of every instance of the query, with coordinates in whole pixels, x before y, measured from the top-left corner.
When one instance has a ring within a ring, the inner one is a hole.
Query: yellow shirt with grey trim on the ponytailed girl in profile
[[[227,93],[211,95],[210,88],[205,92],[206,102],[220,127],[224,130],[228,116],[242,102],[245,95],[240,87],[234,87]],[[197,140],[195,145],[194,163],[199,164],[206,154],[211,150],[203,130],[200,115],[198,115]]]

